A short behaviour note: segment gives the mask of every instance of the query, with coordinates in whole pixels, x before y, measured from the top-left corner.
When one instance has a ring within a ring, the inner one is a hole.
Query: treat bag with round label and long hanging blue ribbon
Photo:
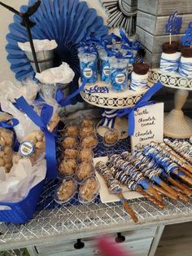
[[[41,110],[41,117],[33,110],[33,108],[26,102],[24,97],[20,97],[15,100],[18,108],[23,111],[28,118],[40,129],[34,131],[33,134],[28,135],[20,144],[20,152],[24,156],[25,152],[28,157],[37,157],[37,149],[41,149],[41,152],[46,150],[46,167],[48,179],[57,178],[57,160],[56,160],[56,148],[55,148],[55,134],[48,130],[47,126],[50,123],[50,119],[53,114],[53,107],[45,104]],[[21,148],[23,147],[23,148]],[[36,159],[34,159],[35,162]]]

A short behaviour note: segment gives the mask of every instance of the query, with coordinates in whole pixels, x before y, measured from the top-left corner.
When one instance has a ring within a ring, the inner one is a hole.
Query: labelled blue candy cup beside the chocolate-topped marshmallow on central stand
[[[127,60],[110,58],[110,80],[111,89],[115,91],[124,91],[128,89],[128,70]]]

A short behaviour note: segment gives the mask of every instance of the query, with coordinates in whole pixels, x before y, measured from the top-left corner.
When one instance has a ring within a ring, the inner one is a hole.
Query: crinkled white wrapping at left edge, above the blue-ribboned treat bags
[[[32,104],[36,98],[39,87],[32,79],[28,78],[23,83],[3,81],[0,83],[0,100],[7,99],[11,102],[15,102],[15,99],[24,96],[28,104]]]

